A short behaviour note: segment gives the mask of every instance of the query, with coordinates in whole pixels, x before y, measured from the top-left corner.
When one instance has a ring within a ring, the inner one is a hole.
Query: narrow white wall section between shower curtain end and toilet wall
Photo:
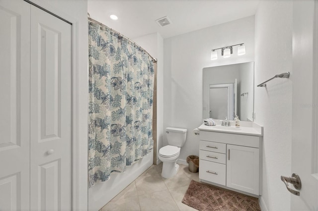
[[[157,58],[157,164],[159,149],[163,146],[163,38],[159,33],[134,38],[134,42]]]

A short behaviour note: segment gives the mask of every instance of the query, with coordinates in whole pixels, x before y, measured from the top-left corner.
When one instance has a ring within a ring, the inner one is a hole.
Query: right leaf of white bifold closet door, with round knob
[[[72,210],[72,26],[31,6],[31,210]]]

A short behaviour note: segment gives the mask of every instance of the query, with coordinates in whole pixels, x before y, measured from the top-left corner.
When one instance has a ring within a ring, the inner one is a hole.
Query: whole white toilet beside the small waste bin
[[[163,162],[161,176],[164,178],[173,177],[179,170],[179,165],[176,163],[180,149],[185,143],[187,137],[187,129],[167,127],[168,145],[159,149],[159,159]]]

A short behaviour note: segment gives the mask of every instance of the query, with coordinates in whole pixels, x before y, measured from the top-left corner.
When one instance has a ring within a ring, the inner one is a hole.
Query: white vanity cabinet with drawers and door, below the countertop
[[[234,191],[260,195],[261,141],[260,135],[201,129],[200,180]]]

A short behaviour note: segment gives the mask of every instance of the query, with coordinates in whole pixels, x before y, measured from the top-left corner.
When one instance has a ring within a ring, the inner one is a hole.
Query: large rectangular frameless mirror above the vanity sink
[[[203,118],[253,121],[254,62],[203,68]]]

